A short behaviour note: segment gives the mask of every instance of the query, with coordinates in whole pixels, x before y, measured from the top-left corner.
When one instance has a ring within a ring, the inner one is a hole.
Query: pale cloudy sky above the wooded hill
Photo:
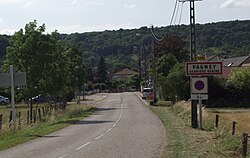
[[[189,24],[189,2],[176,0],[0,0],[0,34],[13,35],[29,22],[46,32],[84,33]],[[181,14],[182,13],[182,14]],[[196,23],[250,20],[250,0],[195,2]],[[172,21],[172,22],[171,22]]]

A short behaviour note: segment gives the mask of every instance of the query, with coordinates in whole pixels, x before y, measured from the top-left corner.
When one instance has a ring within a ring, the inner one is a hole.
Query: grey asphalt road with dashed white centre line
[[[163,144],[163,125],[135,93],[110,93],[90,117],[0,158],[157,158]]]

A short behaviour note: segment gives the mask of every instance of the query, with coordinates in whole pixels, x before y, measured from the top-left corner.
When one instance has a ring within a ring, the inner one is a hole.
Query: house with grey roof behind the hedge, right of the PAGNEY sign
[[[220,55],[214,55],[207,58],[207,61],[221,61],[222,62],[222,77],[228,78],[232,69],[250,66],[250,55],[234,57],[234,58],[223,58]]]

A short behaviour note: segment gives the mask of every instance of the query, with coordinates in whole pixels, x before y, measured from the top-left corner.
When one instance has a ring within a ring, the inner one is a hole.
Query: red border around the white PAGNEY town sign
[[[220,66],[220,72],[207,72],[207,73],[188,73],[188,65],[190,64],[219,64]],[[222,74],[222,62],[186,62],[186,76],[197,76],[197,75],[221,75]]]

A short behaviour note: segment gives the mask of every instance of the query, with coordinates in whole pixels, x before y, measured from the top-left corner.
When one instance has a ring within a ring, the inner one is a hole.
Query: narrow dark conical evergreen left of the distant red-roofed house
[[[107,83],[107,81],[108,81],[108,74],[107,74],[106,63],[104,58],[101,57],[97,67],[97,82]]]

